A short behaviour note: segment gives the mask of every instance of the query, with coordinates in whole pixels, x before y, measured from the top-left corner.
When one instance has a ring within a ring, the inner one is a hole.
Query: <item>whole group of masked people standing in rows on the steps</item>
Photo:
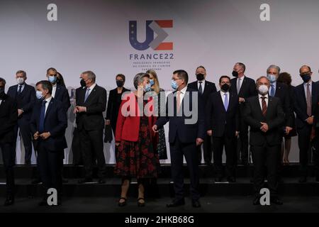
[[[93,181],[93,166],[98,167],[98,183],[105,182],[103,130],[111,126],[116,140],[116,166],[121,176],[121,196],[118,206],[127,204],[130,180],[138,179],[138,206],[145,206],[145,184],[156,179],[160,172],[159,160],[167,159],[164,125],[169,122],[169,152],[175,198],[167,207],[182,206],[184,201],[183,159],[185,157],[191,179],[192,206],[200,207],[198,165],[203,161],[213,164],[215,181],[236,182],[237,163],[254,164],[254,201],[259,204],[259,191],[267,176],[271,201],[282,204],[277,194],[281,180],[281,165],[289,164],[291,137],[298,134],[301,176],[307,181],[308,150],[313,150],[319,181],[318,162],[318,95],[313,72],[303,65],[300,76],[303,83],[291,86],[291,76],[280,73],[270,65],[267,76],[256,82],[245,75],[245,65],[237,62],[233,79],[227,75],[216,84],[209,82],[206,68],[196,68],[196,81],[189,83],[185,70],[172,74],[174,92],[167,97],[154,70],[136,74],[135,90],[125,89],[125,76],[116,75],[116,89],[109,93],[107,110],[106,89],[96,84],[94,72],[82,72],[80,87],[76,89],[77,135],[84,164],[84,179],[79,184]],[[17,84],[4,92],[6,81],[0,78],[0,146],[6,170],[7,195],[5,205],[14,203],[14,173],[16,138],[18,131],[26,150],[25,162],[30,165],[32,144],[37,153],[38,182],[43,182],[45,194],[40,201],[47,205],[47,189],[62,196],[62,168],[64,149],[67,148],[65,130],[69,93],[62,75],[54,68],[47,70],[47,79],[34,87],[26,84],[26,72],[16,72]],[[145,98],[146,97],[146,98]],[[195,101],[194,101],[195,100]],[[187,123],[189,110],[196,111],[196,121]],[[103,112],[106,111],[104,118]],[[250,128],[250,136],[249,135]],[[250,138],[250,139],[249,139]],[[281,148],[281,144],[284,146]],[[250,143],[250,146],[249,146]],[[223,173],[223,150],[226,155]]]

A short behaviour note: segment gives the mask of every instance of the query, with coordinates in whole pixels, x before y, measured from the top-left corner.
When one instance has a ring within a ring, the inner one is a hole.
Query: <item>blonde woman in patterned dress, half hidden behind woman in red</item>
[[[157,77],[157,73],[155,70],[147,70],[147,74],[150,75],[150,84],[151,84],[151,91],[155,92],[157,95],[157,112],[158,116],[160,116],[161,106],[165,106],[165,91],[164,89],[159,87],[159,80]],[[162,94],[162,97],[161,97]],[[158,141],[155,141],[157,143],[157,153],[160,160],[167,159],[167,148],[166,148],[166,140],[165,140],[165,131],[164,127],[161,127],[158,129]]]

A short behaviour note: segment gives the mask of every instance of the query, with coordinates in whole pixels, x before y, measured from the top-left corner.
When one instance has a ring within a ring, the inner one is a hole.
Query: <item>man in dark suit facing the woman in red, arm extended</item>
[[[172,178],[175,199],[167,207],[182,206],[184,201],[183,156],[186,159],[191,177],[192,206],[200,207],[199,176],[196,146],[203,143],[206,128],[202,100],[198,93],[187,86],[189,76],[184,70],[173,72],[172,88],[176,92],[167,96],[166,116],[160,116],[153,131],[169,122],[169,150],[171,153]]]

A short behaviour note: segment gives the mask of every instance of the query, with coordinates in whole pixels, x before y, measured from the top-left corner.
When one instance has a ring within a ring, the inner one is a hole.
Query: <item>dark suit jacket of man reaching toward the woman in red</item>
[[[172,92],[167,96],[166,116],[160,116],[155,124],[159,128],[161,126],[164,126],[165,123],[169,122],[169,143],[174,143],[177,136],[179,137],[181,143],[196,143],[196,138],[205,138],[206,128],[205,119],[203,116],[203,101],[199,97],[198,101],[193,101],[192,99],[194,96],[194,92],[196,91],[189,87],[186,89],[186,93],[179,109],[180,111],[182,111],[181,113],[179,113],[179,115],[181,116],[177,116],[177,92]],[[189,101],[189,103],[186,104],[186,101]],[[189,111],[196,111],[198,113],[196,123],[185,123],[186,119],[191,119],[192,117],[195,118],[195,115],[192,114],[191,116],[187,116],[187,113],[184,112],[184,105],[189,105]],[[169,114],[169,110],[172,109],[172,106],[174,110],[172,111],[172,113]]]

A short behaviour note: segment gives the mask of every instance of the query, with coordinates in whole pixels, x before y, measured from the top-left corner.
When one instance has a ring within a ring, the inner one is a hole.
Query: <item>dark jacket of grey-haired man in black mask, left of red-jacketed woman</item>
[[[75,91],[77,106],[86,107],[86,112],[77,113],[77,128],[79,130],[84,128],[86,131],[103,130],[105,125],[103,111],[106,109],[106,89],[96,84],[86,102],[84,102],[85,93],[86,87],[79,87]]]

